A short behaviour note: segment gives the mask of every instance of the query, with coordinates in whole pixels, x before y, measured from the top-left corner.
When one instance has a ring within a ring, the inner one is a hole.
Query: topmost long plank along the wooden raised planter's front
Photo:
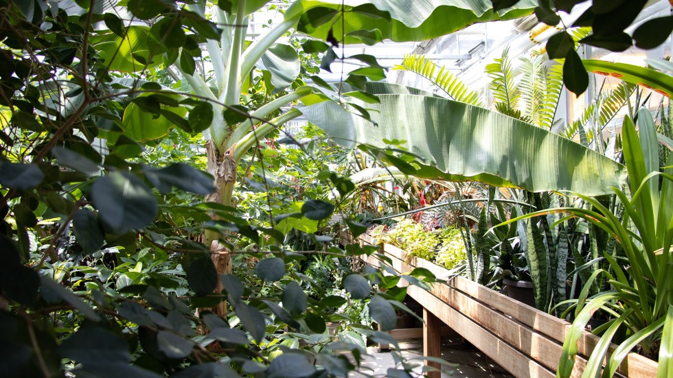
[[[371,242],[374,240],[371,237],[367,237],[364,241]],[[407,252],[390,244],[385,244],[384,250],[390,257],[395,257],[401,261],[407,259]],[[445,279],[449,274],[448,270],[424,259],[412,257],[410,260],[411,265],[407,265],[409,270],[413,269],[414,266],[426,268],[440,279]],[[404,270],[400,272],[404,272]],[[464,277],[457,276],[451,279],[449,285],[469,296],[477,298],[485,305],[503,312],[503,314],[514,318],[517,322],[521,322],[527,327],[531,327],[532,329],[547,335],[551,340],[556,340],[556,342],[559,342],[560,344],[562,344],[565,335],[569,331],[569,322],[551,316],[543,311],[538,311],[534,307],[524,305],[517,300],[504,296],[494,290],[490,290],[488,287],[479,285]],[[598,340],[600,340],[600,338],[589,332],[584,332],[582,334],[580,340],[578,340],[578,353],[585,358],[582,360],[578,359],[578,367],[583,367],[584,364],[586,364],[586,357],[591,355],[591,351],[595,348]],[[657,368],[657,362],[638,355],[637,353],[629,353],[617,371],[630,377],[648,377],[652,376],[652,371],[657,371]]]

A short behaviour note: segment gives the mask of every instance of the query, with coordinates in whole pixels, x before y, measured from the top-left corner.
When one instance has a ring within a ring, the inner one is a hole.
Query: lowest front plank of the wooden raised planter
[[[420,287],[409,286],[407,294],[422,303],[424,307],[440,318],[448,327],[458,331],[468,342],[477,346],[497,364],[503,366],[516,377],[555,377],[555,374],[538,364],[513,346],[483,329],[479,324],[464,316],[453,307]]]

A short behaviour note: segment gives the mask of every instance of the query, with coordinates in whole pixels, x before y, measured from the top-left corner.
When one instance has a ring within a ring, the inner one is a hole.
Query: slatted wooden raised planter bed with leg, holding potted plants
[[[341,235],[341,239],[344,244],[352,243],[349,235]],[[358,243],[375,244],[375,241],[362,236]],[[426,268],[437,279],[447,280],[447,283],[435,283],[430,291],[414,285],[407,289],[407,294],[424,307],[424,355],[440,357],[440,327],[443,323],[515,377],[556,377],[569,322],[464,277],[449,279],[448,270],[424,259],[411,257],[407,263],[407,252],[390,244],[383,244],[382,252],[391,259],[391,264],[374,255],[362,259],[373,266],[388,265],[400,274],[417,267]],[[578,341],[573,377],[582,375],[598,340],[597,336],[584,332]],[[657,362],[629,353],[617,374],[656,377],[657,367]],[[434,376],[439,377],[429,374],[429,377]]]

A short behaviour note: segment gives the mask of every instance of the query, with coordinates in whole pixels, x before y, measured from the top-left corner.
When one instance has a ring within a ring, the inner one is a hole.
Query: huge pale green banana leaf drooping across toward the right
[[[409,152],[426,159],[414,174],[422,178],[596,196],[611,193],[608,188],[620,187],[626,177],[623,165],[501,113],[413,95],[396,84],[368,83],[367,91],[380,99],[380,104],[360,104],[376,125],[331,101],[301,111],[342,145],[387,147],[385,140],[406,141]]]

